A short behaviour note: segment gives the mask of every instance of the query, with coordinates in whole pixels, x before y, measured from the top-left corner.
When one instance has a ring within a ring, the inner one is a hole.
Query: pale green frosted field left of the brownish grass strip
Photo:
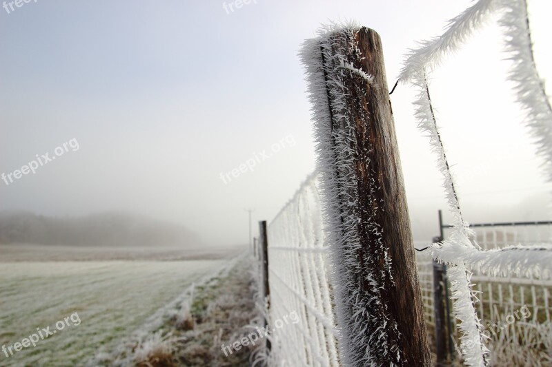
[[[5,262],[0,266],[0,345],[77,312],[70,326],[0,366],[81,366],[112,349],[221,261]]]

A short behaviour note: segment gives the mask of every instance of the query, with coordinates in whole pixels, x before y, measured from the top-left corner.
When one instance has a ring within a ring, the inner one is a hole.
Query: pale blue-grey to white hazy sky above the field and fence
[[[272,220],[315,168],[297,57],[304,39],[320,23],[357,19],[382,36],[392,86],[407,49],[440,34],[470,3],[8,4],[0,9],[0,173],[52,158],[58,146],[63,154],[35,174],[0,181],[0,208],[48,216],[132,211],[185,224],[207,243],[244,243],[244,209],[255,209],[255,221]],[[538,66],[550,80],[552,7],[529,6]],[[433,72],[437,118],[467,220],[546,220],[549,187],[504,82],[501,41],[491,21]],[[436,210],[445,206],[413,96],[400,85],[391,100],[415,235],[426,239],[437,234]],[[252,160],[253,171],[232,176]]]

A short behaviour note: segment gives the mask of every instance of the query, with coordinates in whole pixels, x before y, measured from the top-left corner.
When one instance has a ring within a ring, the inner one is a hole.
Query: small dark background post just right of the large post
[[[433,243],[441,242],[440,237],[434,237]],[[446,319],[444,306],[444,264],[433,261],[433,311],[435,312],[435,349],[437,350],[437,366],[446,366]]]

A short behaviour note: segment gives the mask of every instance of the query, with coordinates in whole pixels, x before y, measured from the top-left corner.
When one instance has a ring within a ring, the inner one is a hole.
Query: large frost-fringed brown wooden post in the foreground
[[[344,364],[431,366],[380,36],[345,28],[315,41],[303,57]]]

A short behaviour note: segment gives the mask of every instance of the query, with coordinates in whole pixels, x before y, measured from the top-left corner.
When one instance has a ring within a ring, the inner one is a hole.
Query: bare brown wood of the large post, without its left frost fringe
[[[345,70],[337,76],[339,83],[328,82],[325,74],[332,134],[341,136],[339,149],[343,144],[348,146],[344,149],[347,162],[337,159],[333,168],[325,169],[334,169],[337,182],[348,182],[336,190],[342,203],[337,207],[342,222],[343,218],[357,222],[342,225],[341,231],[354,231],[360,242],[355,244],[358,250],[353,255],[350,248],[343,250],[342,259],[350,261],[354,256],[355,266],[342,264],[340,268],[350,272],[346,275],[350,281],[349,293],[339,301],[344,302],[342,315],[355,319],[355,323],[362,312],[358,304],[371,305],[364,329],[355,329],[364,330],[365,335],[350,335],[348,340],[356,350],[349,351],[357,361],[371,353],[369,359],[380,366],[431,366],[380,36],[369,28],[357,28],[337,32],[330,40],[331,50],[324,52],[338,57],[324,57],[323,52],[323,69]],[[345,262],[335,254],[334,261]],[[378,284],[378,289],[373,284]],[[364,300],[354,300],[357,296]],[[377,322],[384,325],[384,331],[375,328]],[[382,340],[378,340],[382,333],[388,344],[384,353]],[[365,340],[366,345],[359,345],[359,340]]]

